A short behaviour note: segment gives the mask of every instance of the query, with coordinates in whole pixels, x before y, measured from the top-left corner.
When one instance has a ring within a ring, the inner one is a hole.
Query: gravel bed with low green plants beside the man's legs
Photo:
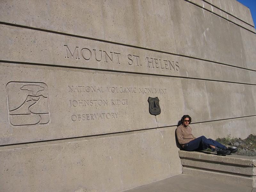
[[[226,138],[218,138],[216,140],[227,147],[237,147],[238,151],[234,155],[256,156],[256,135],[251,134],[244,140],[241,138],[231,139],[230,135],[228,135]]]

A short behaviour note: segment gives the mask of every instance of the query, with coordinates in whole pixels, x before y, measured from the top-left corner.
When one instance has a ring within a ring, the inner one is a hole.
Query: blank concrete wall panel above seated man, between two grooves
[[[191,79],[181,83],[185,111],[195,122],[256,114],[253,86]]]

